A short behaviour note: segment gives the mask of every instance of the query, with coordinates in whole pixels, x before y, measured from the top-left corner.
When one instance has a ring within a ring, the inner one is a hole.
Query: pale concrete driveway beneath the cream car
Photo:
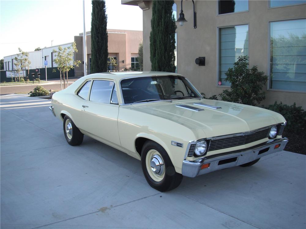
[[[65,141],[50,100],[1,97],[1,228],[305,228],[305,155],[184,177],[166,193],[140,162]]]

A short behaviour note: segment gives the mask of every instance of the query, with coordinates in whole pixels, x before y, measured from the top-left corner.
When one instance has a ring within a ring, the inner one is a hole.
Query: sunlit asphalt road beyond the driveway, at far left
[[[68,80],[69,85],[72,84],[77,79],[78,78],[69,78]],[[6,95],[12,93],[29,93],[30,91],[33,91],[33,89],[37,85],[41,85],[47,90],[54,90],[54,91],[61,90],[61,81],[59,79],[50,79],[47,83],[41,83],[41,84],[32,84],[31,82],[29,82],[28,84],[22,84],[22,85],[0,86],[0,94]],[[63,83],[63,88],[64,88],[64,83]]]

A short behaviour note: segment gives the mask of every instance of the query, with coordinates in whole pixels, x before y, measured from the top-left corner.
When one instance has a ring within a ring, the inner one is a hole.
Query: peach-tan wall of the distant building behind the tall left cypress
[[[138,46],[142,40],[142,31],[108,29],[108,53],[109,56],[117,57],[117,71],[123,71],[131,67],[131,57],[138,56]],[[76,60],[81,60],[76,67],[76,76],[84,75],[83,65],[83,33],[74,36],[76,42]],[[91,58],[91,34],[86,32],[87,74],[90,74],[89,58]]]

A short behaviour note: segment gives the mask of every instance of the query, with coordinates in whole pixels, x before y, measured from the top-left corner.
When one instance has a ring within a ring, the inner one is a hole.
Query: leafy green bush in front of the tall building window
[[[219,94],[223,101],[255,106],[266,98],[262,88],[268,77],[263,71],[259,72],[257,66],[248,68],[248,56],[239,56],[234,67],[229,68],[225,75],[231,89]]]

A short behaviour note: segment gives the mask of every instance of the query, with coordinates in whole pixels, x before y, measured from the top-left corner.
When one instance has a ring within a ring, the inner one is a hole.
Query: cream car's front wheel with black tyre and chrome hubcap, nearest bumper
[[[182,174],[175,172],[167,152],[156,142],[144,144],[141,165],[148,184],[158,191],[170,191],[181,184]]]

